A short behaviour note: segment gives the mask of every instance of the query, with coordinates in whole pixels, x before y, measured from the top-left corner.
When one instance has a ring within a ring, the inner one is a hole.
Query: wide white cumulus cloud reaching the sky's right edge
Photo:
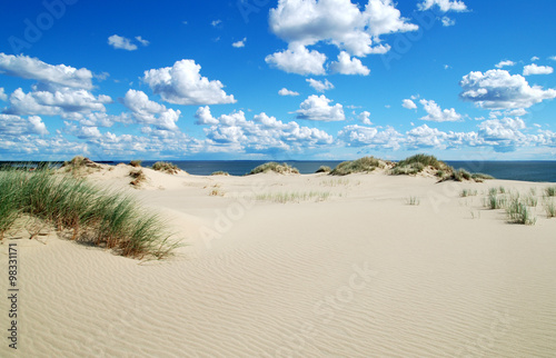
[[[547,99],[556,98],[555,89],[544,90],[539,86],[530,87],[520,74],[510,74],[505,70],[470,72],[459,82],[460,97],[486,109],[529,108]]]

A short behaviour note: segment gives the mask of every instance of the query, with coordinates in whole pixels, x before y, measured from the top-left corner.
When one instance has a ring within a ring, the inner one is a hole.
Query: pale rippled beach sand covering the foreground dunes
[[[162,211],[188,246],[140,263],[56,237],[17,240],[20,357],[556,351],[556,219],[542,200],[527,227],[483,208],[490,187],[540,195],[545,185],[145,170],[149,182],[139,190],[128,189],[125,166],[90,179]],[[477,196],[460,198],[463,188]],[[311,191],[310,200],[271,201]],[[410,197],[419,205],[407,205]],[[3,295],[6,274],[1,282]],[[0,305],[6,317],[8,301]],[[7,341],[2,357],[12,355]]]

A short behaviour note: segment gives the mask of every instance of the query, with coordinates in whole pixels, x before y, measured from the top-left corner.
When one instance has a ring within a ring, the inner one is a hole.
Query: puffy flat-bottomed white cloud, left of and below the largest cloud
[[[200,74],[201,67],[193,60],[181,60],[172,67],[145,71],[142,80],[153,93],[175,105],[222,105],[235,103],[224,84]]]

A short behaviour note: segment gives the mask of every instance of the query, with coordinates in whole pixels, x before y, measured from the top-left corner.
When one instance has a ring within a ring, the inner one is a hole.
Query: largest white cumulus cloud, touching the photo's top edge
[[[326,56],[307,49],[320,41],[350,56],[365,57],[390,49],[381,43],[381,34],[418,29],[401,17],[391,0],[369,0],[365,9],[350,0],[279,0],[270,10],[269,26],[276,36],[288,42],[288,49],[268,56],[267,63],[299,74],[325,73]],[[363,64],[350,62],[350,72],[365,72]],[[338,67],[341,62],[336,63],[339,64],[335,67],[341,69]]]

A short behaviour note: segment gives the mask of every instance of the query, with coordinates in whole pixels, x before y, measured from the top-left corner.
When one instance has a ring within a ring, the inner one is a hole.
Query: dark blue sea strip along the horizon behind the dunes
[[[195,176],[209,176],[215,171],[227,171],[231,176],[245,176],[251,169],[268,160],[170,160],[178,168]],[[299,170],[300,173],[314,173],[320,166],[335,168],[341,160],[308,160],[296,161],[286,160]],[[102,163],[117,165],[129,161],[102,161]],[[142,161],[143,167],[150,167],[155,160]],[[524,180],[536,182],[556,182],[556,160],[553,161],[445,161],[455,169],[465,169],[469,172],[481,172],[495,177],[496,179]],[[21,162],[0,161],[2,165],[21,165]],[[37,166],[38,162],[24,162],[24,165]],[[59,163],[54,163],[59,165]]]

